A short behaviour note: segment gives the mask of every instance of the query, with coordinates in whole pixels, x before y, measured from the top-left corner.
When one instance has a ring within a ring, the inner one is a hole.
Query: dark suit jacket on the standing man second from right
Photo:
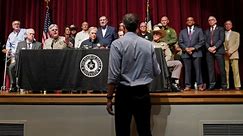
[[[213,46],[216,47],[216,53],[215,54],[224,54],[225,50],[224,50],[224,38],[225,38],[225,34],[224,34],[224,28],[221,26],[216,26],[215,30],[214,30],[214,34],[213,34]],[[210,29],[207,29],[205,31],[205,42],[206,42],[206,48],[208,49],[209,47],[211,47],[210,43],[211,43],[211,32]]]

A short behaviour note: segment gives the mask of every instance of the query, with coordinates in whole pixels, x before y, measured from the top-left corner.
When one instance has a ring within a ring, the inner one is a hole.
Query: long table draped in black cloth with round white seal
[[[156,56],[162,73],[151,91],[168,91],[169,73],[161,49]],[[27,90],[106,91],[109,50],[21,50],[17,63],[18,86]]]

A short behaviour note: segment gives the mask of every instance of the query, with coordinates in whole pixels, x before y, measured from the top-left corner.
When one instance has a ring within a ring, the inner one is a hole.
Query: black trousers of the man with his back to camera
[[[119,85],[115,96],[116,136],[130,136],[134,116],[139,136],[152,136],[150,131],[151,102],[146,85],[128,87]]]

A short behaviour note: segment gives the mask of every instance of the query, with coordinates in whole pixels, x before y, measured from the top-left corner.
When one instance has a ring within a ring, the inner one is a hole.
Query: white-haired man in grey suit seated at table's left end
[[[19,56],[19,52],[22,49],[41,49],[41,43],[35,41],[35,31],[34,29],[30,28],[26,30],[26,39],[24,41],[21,41],[18,43],[17,45],[17,49],[16,49],[16,54],[15,54],[15,63],[10,64],[9,69],[11,69],[11,79],[13,79],[13,83],[16,84],[16,64],[18,65],[18,56]],[[12,91],[16,91],[16,89],[12,90]]]

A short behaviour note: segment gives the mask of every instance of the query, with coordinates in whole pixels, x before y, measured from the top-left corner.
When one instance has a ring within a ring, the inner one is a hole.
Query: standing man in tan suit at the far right
[[[227,79],[227,88],[229,88],[229,66],[231,64],[234,78],[235,90],[240,90],[240,73],[239,73],[239,46],[240,46],[240,34],[238,32],[232,31],[232,22],[230,20],[224,23],[225,27],[225,70]]]

